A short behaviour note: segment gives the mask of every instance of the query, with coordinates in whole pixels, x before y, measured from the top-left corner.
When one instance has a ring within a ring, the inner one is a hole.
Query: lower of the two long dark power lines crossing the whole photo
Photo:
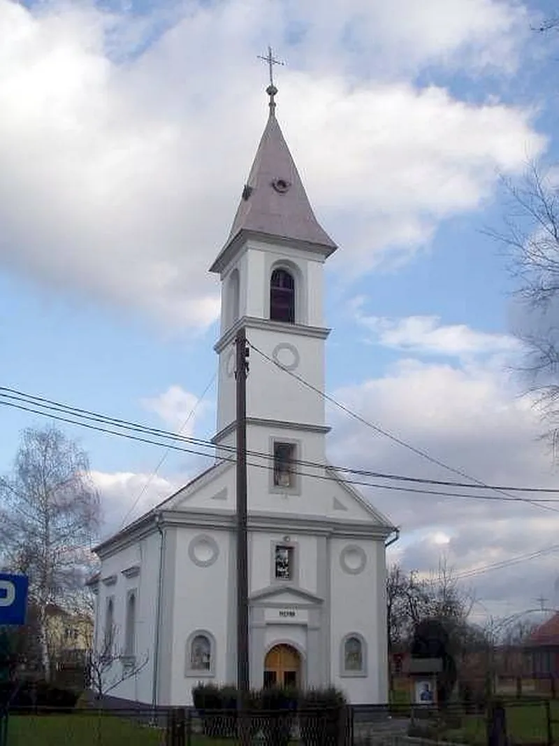
[[[1,396],[1,394],[0,394],[0,396]],[[21,401],[25,401],[25,400],[19,399],[18,401],[21,402]],[[119,436],[119,437],[122,437],[122,438],[125,438],[125,439],[130,439],[130,440],[137,441],[137,442],[143,442],[143,443],[146,443],[148,445],[157,445],[157,446],[160,446],[162,448],[168,448],[168,449],[173,450],[173,451],[180,451],[182,453],[194,454],[194,455],[197,455],[197,456],[202,456],[202,457],[206,457],[206,458],[215,459],[215,454],[208,454],[208,453],[203,452],[203,451],[195,451],[193,448],[183,448],[183,447],[180,447],[179,445],[171,445],[171,444],[168,444],[168,443],[162,443],[162,442],[159,442],[159,441],[155,441],[155,440],[149,439],[147,437],[140,436],[139,434],[131,434],[131,433],[127,433],[125,431],[124,432],[120,432],[119,430],[110,430],[108,427],[101,427],[101,424],[91,424],[91,423],[85,422],[85,421],[80,421],[80,420],[75,420],[75,419],[69,419],[69,417],[61,416],[60,413],[57,414],[57,413],[53,413],[53,412],[50,412],[50,411],[49,412],[43,412],[42,410],[34,409],[32,406],[25,406],[24,404],[16,404],[14,401],[3,401],[0,398],[0,404],[2,404],[4,407],[13,407],[13,408],[18,409],[18,410],[23,410],[23,411],[31,412],[31,413],[38,414],[38,415],[41,415],[41,416],[50,417],[51,419],[55,419],[57,421],[63,421],[63,422],[66,422],[67,424],[78,425],[78,427],[86,427],[89,430],[95,430],[95,431],[98,431],[98,432],[101,432],[101,433],[106,433],[108,435],[116,435],[116,436]],[[31,402],[31,403],[28,402],[28,404],[34,404],[34,403],[33,402]],[[35,406],[42,406],[42,405],[35,404]],[[52,407],[50,407],[50,409],[52,409]],[[74,414],[74,413],[70,413],[70,414],[72,414],[72,416],[75,416],[75,417],[79,416],[79,415]],[[119,425],[119,427],[123,427],[123,426]],[[139,427],[139,426],[136,426],[136,427]],[[147,428],[147,430],[151,430],[151,428]],[[143,431],[140,430],[140,432],[143,432]],[[268,458],[268,456],[266,458]],[[228,461],[228,462],[231,462],[231,463],[235,463],[236,462],[235,457],[232,457],[232,456],[221,456],[221,457],[219,457],[219,460],[220,461]],[[264,468],[267,471],[274,471],[273,466],[266,466],[265,464],[259,464],[259,463],[249,462],[248,466],[252,466],[254,468]],[[329,467],[326,464],[318,464],[318,465],[316,465],[315,468],[326,469],[326,470],[331,469],[332,471],[336,471],[334,467]],[[329,477],[329,476],[326,476],[325,474],[311,474],[311,473],[305,472],[305,471],[297,471],[297,474],[300,474],[301,477],[310,477],[312,479],[320,479],[320,480],[325,480],[325,481],[341,482],[341,483],[347,484],[347,485],[364,486],[364,487],[369,487],[369,488],[373,488],[373,489],[387,489],[387,490],[391,490],[391,491],[405,492],[405,493],[411,492],[411,493],[417,493],[417,494],[420,494],[420,495],[435,495],[435,496],[437,496],[439,498],[463,498],[463,499],[469,499],[469,500],[485,500],[485,501],[488,500],[488,501],[506,501],[506,502],[527,503],[527,504],[533,505],[534,507],[540,507],[542,509],[552,510],[552,511],[554,511],[556,513],[559,513],[559,510],[557,508],[553,508],[553,507],[545,504],[546,502],[559,502],[558,500],[553,500],[552,498],[548,498],[547,501],[545,501],[543,499],[540,499],[539,501],[533,501],[533,500],[529,500],[528,498],[514,497],[512,495],[511,496],[506,496],[506,495],[505,496],[496,496],[496,495],[468,495],[468,494],[456,493],[456,492],[440,492],[438,490],[432,490],[432,489],[417,489],[417,488],[408,487],[408,486],[405,486],[405,487],[401,486],[400,487],[400,486],[395,486],[395,485],[371,483],[371,482],[367,482],[367,481],[364,481],[364,480],[347,480],[347,479],[344,479],[344,478],[341,478],[341,477]]]

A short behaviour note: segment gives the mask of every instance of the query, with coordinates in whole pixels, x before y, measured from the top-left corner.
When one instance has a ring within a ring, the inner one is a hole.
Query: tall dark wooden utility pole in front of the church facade
[[[239,329],[236,340],[237,401],[237,687],[239,709],[246,706],[250,689],[248,656],[248,551],[247,551],[247,332]],[[241,739],[242,740],[242,739]]]

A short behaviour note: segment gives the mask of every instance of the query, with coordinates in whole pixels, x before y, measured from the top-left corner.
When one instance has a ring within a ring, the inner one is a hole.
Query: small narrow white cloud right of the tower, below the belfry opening
[[[391,319],[366,316],[358,308],[356,321],[373,333],[378,344],[416,354],[464,357],[519,350],[519,342],[513,336],[474,330],[465,324],[443,325],[438,316]]]

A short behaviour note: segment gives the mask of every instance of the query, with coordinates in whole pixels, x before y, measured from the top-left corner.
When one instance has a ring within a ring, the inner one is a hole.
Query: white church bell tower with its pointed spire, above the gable
[[[324,342],[329,334],[323,325],[323,264],[336,246],[315,217],[279,128],[273,83],[267,93],[268,122],[229,238],[210,268],[221,278],[213,439],[218,454],[220,445],[235,445],[234,340],[239,327],[246,328],[253,345],[247,377],[247,451],[263,454],[250,456],[249,465],[268,468],[249,469],[249,510],[268,509],[268,498],[273,501],[278,493],[284,498],[302,495],[306,480],[294,463],[323,464],[329,430],[323,397],[296,376],[323,391]]]

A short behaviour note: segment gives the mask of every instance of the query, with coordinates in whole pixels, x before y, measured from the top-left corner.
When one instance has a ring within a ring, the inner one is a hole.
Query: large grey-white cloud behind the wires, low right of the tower
[[[484,483],[558,487],[550,454],[537,439],[540,421],[490,360],[457,367],[402,360],[383,377],[347,386],[335,392],[335,397],[399,439]],[[388,474],[470,481],[335,409],[330,420],[334,430],[329,450],[334,463]],[[391,556],[408,568],[428,573],[444,556],[456,571],[468,571],[557,544],[559,495],[539,495],[558,500],[547,504],[552,508],[547,510],[500,499],[406,492],[408,486],[402,483],[369,481],[379,485],[367,490],[373,504],[402,529]],[[399,492],[385,485],[405,489]],[[413,486],[443,493],[508,496],[487,489]],[[538,497],[517,492],[509,496]],[[491,612],[502,614],[528,607],[541,592],[551,598],[557,577],[557,554],[546,554],[464,579],[464,583],[475,589]]]

